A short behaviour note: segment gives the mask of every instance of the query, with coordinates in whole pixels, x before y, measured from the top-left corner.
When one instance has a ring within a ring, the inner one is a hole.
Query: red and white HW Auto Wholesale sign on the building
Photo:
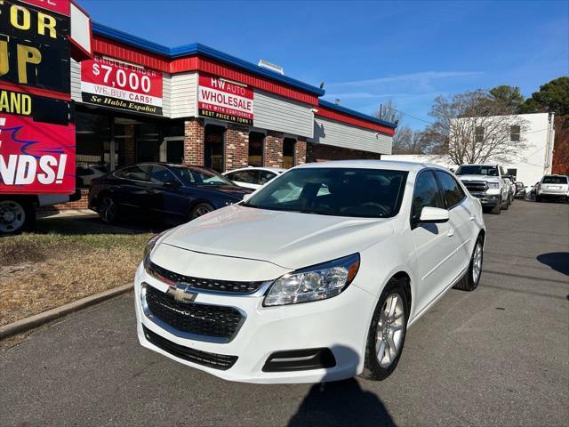
[[[199,75],[199,115],[252,125],[252,89],[208,74]]]

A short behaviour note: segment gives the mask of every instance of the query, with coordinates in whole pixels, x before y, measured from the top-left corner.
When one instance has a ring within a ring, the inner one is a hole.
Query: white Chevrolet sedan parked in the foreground
[[[314,383],[397,367],[405,334],[482,272],[482,207],[435,165],[301,165],[148,242],[140,343],[230,381]]]

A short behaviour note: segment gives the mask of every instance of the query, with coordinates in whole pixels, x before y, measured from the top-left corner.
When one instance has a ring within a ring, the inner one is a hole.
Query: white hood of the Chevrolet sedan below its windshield
[[[392,222],[230,205],[172,230],[161,245],[294,270],[362,251],[392,235]]]

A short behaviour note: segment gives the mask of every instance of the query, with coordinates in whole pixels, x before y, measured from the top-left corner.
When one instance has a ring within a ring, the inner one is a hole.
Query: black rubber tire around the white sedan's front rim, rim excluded
[[[409,321],[409,303],[407,300],[407,294],[405,294],[405,279],[394,279],[389,280],[388,284],[383,289],[381,297],[377,302],[375,310],[373,311],[373,318],[370,326],[368,327],[367,342],[365,345],[365,363],[364,372],[362,376],[369,380],[381,381],[387,378],[393,373],[403,350],[405,347],[405,338],[407,335],[407,322]],[[378,321],[381,314],[381,308],[389,294],[397,294],[403,301],[403,306],[405,310],[405,327],[403,328],[403,338],[401,342],[401,348],[397,354],[396,359],[389,365],[389,367],[381,367],[379,361],[377,360],[377,355],[375,352],[375,337],[377,335]]]

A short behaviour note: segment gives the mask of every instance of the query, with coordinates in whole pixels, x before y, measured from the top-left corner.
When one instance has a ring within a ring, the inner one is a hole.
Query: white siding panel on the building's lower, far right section
[[[391,154],[392,146],[388,135],[324,117],[314,117],[314,138],[309,141],[379,154]]]

